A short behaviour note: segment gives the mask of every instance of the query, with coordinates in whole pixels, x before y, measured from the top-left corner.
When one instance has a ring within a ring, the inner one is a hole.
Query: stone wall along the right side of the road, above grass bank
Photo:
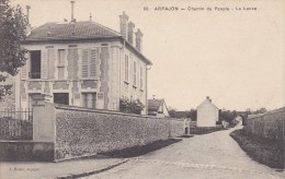
[[[263,115],[249,116],[243,129],[263,138],[284,140],[285,107]]]

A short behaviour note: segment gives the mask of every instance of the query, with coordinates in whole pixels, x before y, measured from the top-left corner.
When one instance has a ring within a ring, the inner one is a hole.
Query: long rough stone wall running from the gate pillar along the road
[[[145,145],[183,135],[184,122],[56,105],[55,160]]]

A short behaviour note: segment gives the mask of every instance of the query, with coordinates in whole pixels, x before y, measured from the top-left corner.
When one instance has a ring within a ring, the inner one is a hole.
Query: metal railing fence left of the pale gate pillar
[[[32,140],[33,110],[0,109],[0,140]]]

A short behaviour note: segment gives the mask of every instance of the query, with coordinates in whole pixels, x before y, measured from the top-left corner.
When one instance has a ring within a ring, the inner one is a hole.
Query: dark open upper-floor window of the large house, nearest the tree
[[[30,79],[41,79],[41,50],[30,51],[31,55],[31,71]]]

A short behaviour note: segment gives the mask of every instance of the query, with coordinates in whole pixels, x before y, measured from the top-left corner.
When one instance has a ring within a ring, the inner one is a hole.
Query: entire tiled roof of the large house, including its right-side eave
[[[93,40],[102,38],[116,38],[122,43],[126,41],[125,45],[130,48],[130,50],[133,50],[138,57],[142,58],[148,64],[152,64],[149,59],[147,59],[133,45],[125,40],[121,33],[93,21],[79,21],[75,23],[46,23],[32,29],[31,34],[25,38],[25,40],[22,41],[22,44],[46,43],[55,40]]]

